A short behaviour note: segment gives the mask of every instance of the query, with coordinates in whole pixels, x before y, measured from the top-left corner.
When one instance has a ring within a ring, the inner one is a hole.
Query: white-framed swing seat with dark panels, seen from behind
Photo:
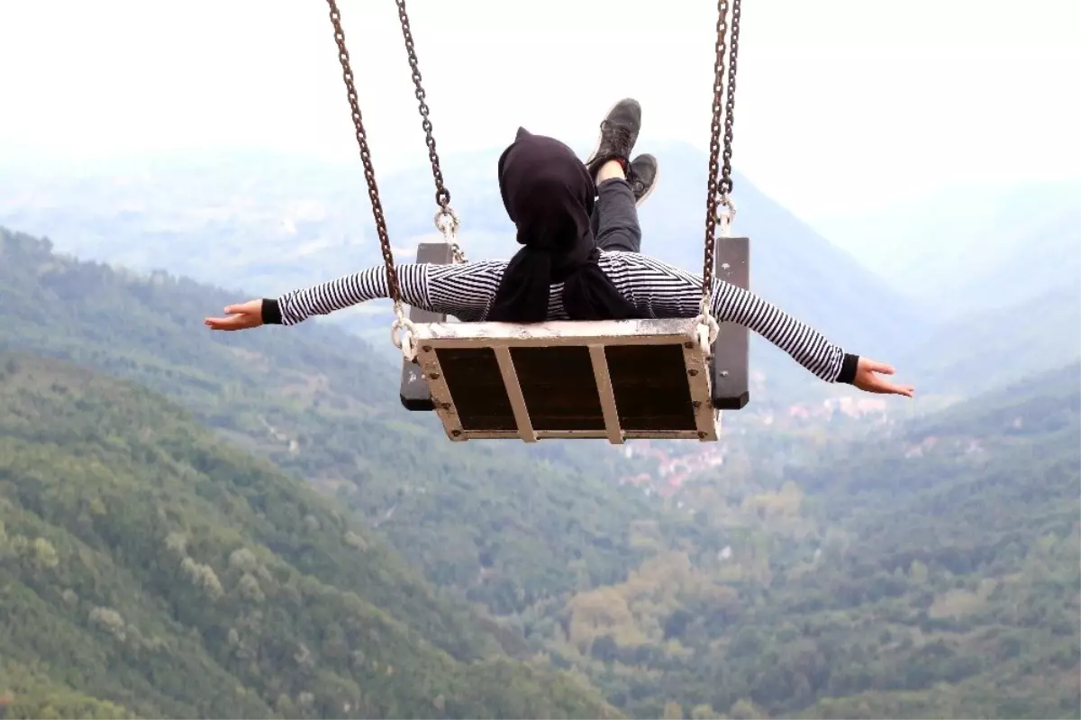
[[[428,323],[417,363],[452,440],[716,440],[697,323]]]

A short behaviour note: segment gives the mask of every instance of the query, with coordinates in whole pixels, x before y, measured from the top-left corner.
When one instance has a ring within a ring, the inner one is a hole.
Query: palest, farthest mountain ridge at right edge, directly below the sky
[[[1025,303],[1081,274],[1081,182],[965,187],[818,225],[944,318]]]

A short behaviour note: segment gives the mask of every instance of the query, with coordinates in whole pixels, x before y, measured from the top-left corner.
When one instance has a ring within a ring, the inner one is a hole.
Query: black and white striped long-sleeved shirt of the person
[[[702,302],[702,276],[640,253],[602,252],[601,269],[644,317],[694,318]],[[507,261],[456,265],[414,263],[397,266],[402,301],[463,322],[483,321],[489,314]],[[378,297],[389,297],[387,272],[373,267],[278,298],[281,323],[294,325],[313,315]],[[568,320],[562,283],[551,286],[548,319]],[[852,382],[855,356],[846,356],[816,330],[751,292],[713,280],[711,311],[719,322],[735,322],[755,331],[827,383]],[[277,318],[275,318],[277,320]],[[843,372],[842,372],[843,370]]]

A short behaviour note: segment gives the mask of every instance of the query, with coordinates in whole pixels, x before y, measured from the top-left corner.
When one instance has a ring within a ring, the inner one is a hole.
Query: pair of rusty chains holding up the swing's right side
[[[739,4],[740,0],[731,0],[732,8],[732,42],[725,42],[729,35],[728,16],[730,0],[718,0],[717,3],[717,44],[713,63],[713,117],[709,137],[709,178],[706,190],[706,252],[702,271],[702,314],[698,320],[703,329],[708,329],[709,344],[717,339],[719,326],[713,319],[709,301],[712,296],[713,264],[717,250],[718,226],[723,237],[731,232],[735,219],[736,208],[731,199],[732,194],[732,125],[735,110],[736,88],[736,55],[739,51]],[[725,64],[725,50],[729,51]],[[724,75],[728,65],[728,88]],[[721,149],[721,126],[723,114],[723,154]],[[720,178],[718,178],[720,175]],[[707,351],[707,355],[709,352]]]

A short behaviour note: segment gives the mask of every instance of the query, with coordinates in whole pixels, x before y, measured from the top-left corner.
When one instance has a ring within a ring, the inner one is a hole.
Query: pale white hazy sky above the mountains
[[[376,169],[423,159],[395,2],[339,3]],[[409,10],[444,152],[519,124],[591,137],[625,95],[644,106],[642,150],[708,141],[712,0]],[[1072,0],[746,0],[735,164],[808,218],[938,184],[1077,177],[1079,26]],[[0,0],[0,165],[240,146],[356,158],[321,0]]]

